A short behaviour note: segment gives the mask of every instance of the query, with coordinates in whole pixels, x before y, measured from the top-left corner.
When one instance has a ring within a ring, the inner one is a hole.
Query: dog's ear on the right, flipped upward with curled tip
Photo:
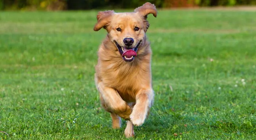
[[[143,22],[144,22],[144,25],[145,25],[145,27],[144,27],[145,32],[148,30],[149,25],[150,25],[147,21],[148,14],[153,14],[154,17],[157,16],[156,6],[154,4],[151,4],[150,2],[146,2],[142,6],[136,8],[134,10],[134,12],[138,13],[144,19]]]

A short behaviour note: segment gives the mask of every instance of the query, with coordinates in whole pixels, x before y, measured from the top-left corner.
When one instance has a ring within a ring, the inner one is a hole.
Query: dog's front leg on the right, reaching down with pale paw
[[[132,114],[130,115],[130,120],[135,126],[140,126],[144,123],[153,101],[153,89],[142,89],[136,95],[136,104],[134,105]]]

